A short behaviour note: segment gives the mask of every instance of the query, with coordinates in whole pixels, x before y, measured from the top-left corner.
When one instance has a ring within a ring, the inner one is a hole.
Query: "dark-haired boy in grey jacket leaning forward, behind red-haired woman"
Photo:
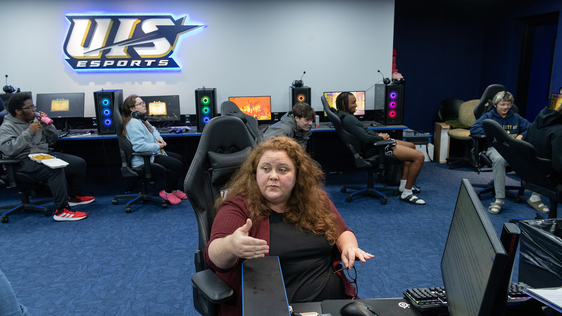
[[[314,109],[308,103],[298,102],[293,106],[293,110],[282,116],[281,120],[266,129],[260,130],[256,142],[284,135],[294,138],[301,147],[306,150],[310,135],[310,127],[315,119]]]

